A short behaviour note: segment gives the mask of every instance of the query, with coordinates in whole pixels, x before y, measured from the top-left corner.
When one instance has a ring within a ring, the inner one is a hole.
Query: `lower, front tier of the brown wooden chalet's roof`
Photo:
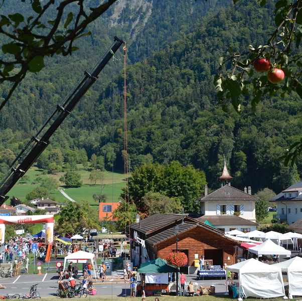
[[[213,228],[211,226],[202,224],[202,223],[185,222],[184,224],[179,224],[178,226],[180,228],[179,234],[187,232],[187,231],[189,231],[191,229],[194,229],[196,227],[201,227],[201,228],[207,229],[208,231],[211,231],[211,232],[213,232],[215,234],[218,234],[218,235],[224,237],[227,240],[230,240],[230,241],[238,244],[237,241],[234,241],[233,239],[224,236],[224,232],[222,232],[222,231],[220,231],[218,229],[215,229],[215,228]],[[156,235],[154,235],[154,236],[152,236],[150,238],[147,238],[145,240],[145,242],[148,243],[148,244],[150,244],[150,245],[152,245],[152,246],[156,246],[157,244],[159,244],[159,243],[161,243],[161,242],[163,242],[163,241],[165,241],[167,239],[170,239],[172,237],[176,237],[174,226],[171,227],[170,229],[167,229],[167,230],[165,230],[165,231],[163,231],[161,233],[158,233],[158,234],[156,234]],[[240,245],[240,243],[239,243],[239,245]]]

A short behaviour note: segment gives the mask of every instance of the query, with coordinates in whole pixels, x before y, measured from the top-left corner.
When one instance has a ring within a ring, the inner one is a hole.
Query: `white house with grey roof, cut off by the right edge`
[[[277,204],[274,218],[278,223],[291,225],[302,219],[302,181],[298,181],[269,200]]]

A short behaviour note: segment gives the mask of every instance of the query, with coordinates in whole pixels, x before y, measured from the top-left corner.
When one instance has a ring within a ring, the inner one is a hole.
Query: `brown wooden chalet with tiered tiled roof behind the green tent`
[[[134,265],[140,265],[155,258],[166,259],[176,251],[175,226],[178,234],[178,251],[188,256],[188,266],[194,266],[194,260],[205,256],[214,265],[235,263],[237,241],[226,237],[224,232],[204,224],[190,215],[154,214],[130,225],[131,256]],[[197,258],[196,258],[197,257]],[[195,271],[195,269],[194,269]]]

